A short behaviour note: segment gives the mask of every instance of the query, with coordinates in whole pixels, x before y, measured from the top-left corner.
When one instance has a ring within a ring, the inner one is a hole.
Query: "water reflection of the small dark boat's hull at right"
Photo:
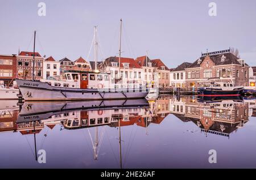
[[[197,100],[199,102],[221,102],[222,100],[243,101],[242,96],[199,96]]]

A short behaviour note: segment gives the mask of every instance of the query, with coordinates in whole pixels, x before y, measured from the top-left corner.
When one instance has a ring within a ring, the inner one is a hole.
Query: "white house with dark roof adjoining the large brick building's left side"
[[[170,86],[171,87],[185,87],[185,68],[192,63],[184,62],[170,71]]]

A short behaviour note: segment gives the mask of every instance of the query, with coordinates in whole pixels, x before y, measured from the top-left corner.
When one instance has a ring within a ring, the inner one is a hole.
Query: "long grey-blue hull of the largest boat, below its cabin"
[[[112,100],[147,96],[147,92],[143,92],[142,89],[79,89],[53,87],[47,83],[28,80],[16,80],[16,82],[26,101]]]

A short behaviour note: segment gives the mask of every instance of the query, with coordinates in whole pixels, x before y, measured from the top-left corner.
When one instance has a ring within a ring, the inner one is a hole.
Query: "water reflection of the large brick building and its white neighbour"
[[[244,127],[252,115],[254,106],[249,109],[248,100],[241,97],[188,97],[174,98],[170,100],[170,112],[181,121],[193,122],[205,132],[207,136],[217,134],[230,136],[233,131]]]

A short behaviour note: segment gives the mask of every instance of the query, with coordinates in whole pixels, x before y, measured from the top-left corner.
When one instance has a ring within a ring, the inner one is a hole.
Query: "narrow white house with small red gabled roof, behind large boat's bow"
[[[60,62],[50,56],[43,62],[43,79],[57,75],[60,75]]]

